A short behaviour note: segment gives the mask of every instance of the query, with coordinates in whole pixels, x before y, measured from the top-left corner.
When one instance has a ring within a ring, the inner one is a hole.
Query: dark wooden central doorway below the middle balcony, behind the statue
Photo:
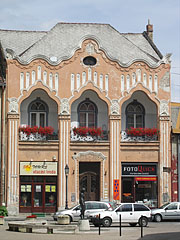
[[[79,192],[85,189],[85,201],[100,200],[100,163],[79,163]]]

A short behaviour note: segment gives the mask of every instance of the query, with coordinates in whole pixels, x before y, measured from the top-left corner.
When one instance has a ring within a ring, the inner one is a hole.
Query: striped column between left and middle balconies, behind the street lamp
[[[58,208],[65,206],[66,201],[66,176],[65,166],[69,164],[69,144],[70,144],[70,113],[68,99],[61,100],[59,114],[59,164],[58,164]]]

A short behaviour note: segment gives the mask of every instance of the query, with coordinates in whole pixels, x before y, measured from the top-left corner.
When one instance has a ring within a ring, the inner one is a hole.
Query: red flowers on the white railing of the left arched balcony
[[[20,126],[19,134],[20,140],[24,141],[37,141],[46,140],[47,136],[53,135],[54,128],[51,126],[47,127],[30,127],[30,126]]]

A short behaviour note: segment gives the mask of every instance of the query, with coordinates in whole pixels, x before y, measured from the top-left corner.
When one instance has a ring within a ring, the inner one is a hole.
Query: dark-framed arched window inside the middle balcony
[[[88,98],[78,106],[78,120],[80,127],[97,126],[97,107]]]

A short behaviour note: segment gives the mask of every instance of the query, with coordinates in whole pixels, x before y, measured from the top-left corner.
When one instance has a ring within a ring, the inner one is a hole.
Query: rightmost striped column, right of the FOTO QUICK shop
[[[171,122],[168,102],[160,103],[159,205],[171,201]]]

